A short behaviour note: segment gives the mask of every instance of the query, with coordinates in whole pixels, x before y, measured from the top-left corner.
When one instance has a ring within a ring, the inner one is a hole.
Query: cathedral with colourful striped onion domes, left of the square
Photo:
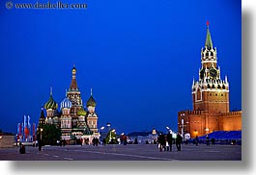
[[[69,142],[72,137],[76,139],[89,139],[91,142],[94,137],[100,137],[98,130],[98,114],[96,113],[96,101],[93,97],[91,88],[91,96],[83,107],[81,92],[77,87],[76,68],[73,65],[71,69],[71,86],[66,90],[66,97],[60,104],[60,112],[58,112],[58,104],[53,99],[52,89],[50,90],[49,100],[42,107],[38,129],[43,128],[44,124],[55,125],[61,131],[61,139]],[[44,116],[44,109],[46,116]]]

